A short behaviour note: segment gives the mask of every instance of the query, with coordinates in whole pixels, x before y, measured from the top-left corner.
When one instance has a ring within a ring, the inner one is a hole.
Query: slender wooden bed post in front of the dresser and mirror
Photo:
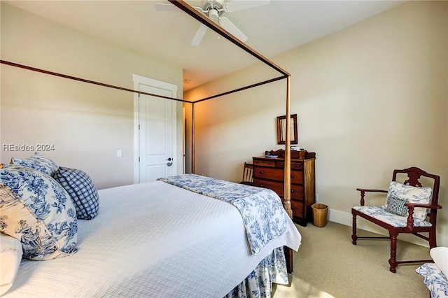
[[[286,138],[285,138],[285,192],[283,195],[283,206],[288,216],[293,219],[293,210],[291,209],[290,190],[291,190],[291,148],[290,148],[290,76],[286,78]]]

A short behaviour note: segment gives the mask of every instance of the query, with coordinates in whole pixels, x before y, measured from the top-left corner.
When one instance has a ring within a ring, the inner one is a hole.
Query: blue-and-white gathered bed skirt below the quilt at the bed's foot
[[[225,298],[271,297],[272,283],[280,285],[289,283],[283,247],[274,249]]]

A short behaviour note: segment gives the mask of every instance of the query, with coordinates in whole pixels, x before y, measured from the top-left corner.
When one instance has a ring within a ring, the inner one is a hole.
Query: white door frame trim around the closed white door
[[[132,75],[132,81],[134,82],[134,90],[139,90],[139,85],[148,85],[151,87],[157,87],[160,89],[169,90],[172,92],[172,97],[177,98],[177,85],[172,83],[162,82],[161,80],[155,80],[153,78],[146,78],[137,74]],[[177,173],[177,113],[176,113],[176,101],[167,99],[172,104],[172,156],[173,156],[173,172]],[[134,183],[139,183],[140,171],[139,171],[139,93],[134,92]]]

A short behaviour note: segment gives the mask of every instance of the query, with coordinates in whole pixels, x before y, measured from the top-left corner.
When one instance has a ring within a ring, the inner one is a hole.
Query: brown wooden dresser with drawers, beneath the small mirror
[[[279,157],[252,157],[253,159],[253,186],[265,187],[274,190],[283,202],[284,192],[284,152],[275,151]],[[316,153],[307,152],[300,159],[298,152],[291,151],[291,208],[293,221],[306,226],[312,221],[311,205],[316,198],[314,162]]]

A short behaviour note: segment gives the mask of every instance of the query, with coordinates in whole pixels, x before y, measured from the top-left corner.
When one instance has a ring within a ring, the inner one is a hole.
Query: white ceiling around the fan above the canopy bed
[[[2,0],[3,1],[3,0]],[[231,0],[232,1],[232,0]],[[254,0],[233,0],[254,1]],[[190,45],[200,23],[175,8],[162,11],[146,1],[4,1],[36,15],[171,62],[183,69],[184,90],[221,78],[256,60],[225,38],[207,31]],[[192,6],[204,1],[186,0]],[[246,44],[272,58],[398,6],[405,1],[271,0],[268,5],[227,13],[248,36]],[[288,71],[287,66],[279,65]]]

